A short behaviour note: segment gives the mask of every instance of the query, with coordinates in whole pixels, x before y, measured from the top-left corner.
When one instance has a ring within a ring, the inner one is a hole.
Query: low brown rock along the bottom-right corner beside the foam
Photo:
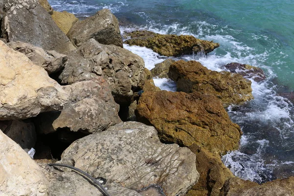
[[[294,176],[258,185],[240,178],[230,178],[221,189],[221,196],[293,196]]]

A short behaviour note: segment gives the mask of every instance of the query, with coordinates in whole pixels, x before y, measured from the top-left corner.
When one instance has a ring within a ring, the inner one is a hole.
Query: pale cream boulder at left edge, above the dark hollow
[[[0,120],[26,119],[60,110],[67,93],[41,67],[0,41]]]

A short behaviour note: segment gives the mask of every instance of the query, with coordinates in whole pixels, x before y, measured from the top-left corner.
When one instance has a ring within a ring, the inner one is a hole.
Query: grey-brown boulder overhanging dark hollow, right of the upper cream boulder
[[[90,134],[122,122],[118,115],[120,106],[114,101],[108,83],[102,77],[64,88],[69,94],[69,102],[60,113],[49,112],[38,116],[41,133],[68,128],[70,131]]]

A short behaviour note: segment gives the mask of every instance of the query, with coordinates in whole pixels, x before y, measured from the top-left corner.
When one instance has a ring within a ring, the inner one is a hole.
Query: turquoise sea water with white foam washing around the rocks
[[[57,11],[77,17],[110,9],[121,31],[151,30],[193,35],[221,47],[208,55],[185,55],[208,69],[225,70],[231,62],[262,68],[267,80],[252,81],[254,100],[230,106],[231,120],[244,132],[239,150],[222,156],[237,176],[262,183],[294,175],[294,107],[278,92],[294,90],[294,1],[292,0],[49,0]],[[140,55],[147,69],[167,59],[150,49],[124,45]],[[168,79],[155,78],[163,90],[175,91]]]

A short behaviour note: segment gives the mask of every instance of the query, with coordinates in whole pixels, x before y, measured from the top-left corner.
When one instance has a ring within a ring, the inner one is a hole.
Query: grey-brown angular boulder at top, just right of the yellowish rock
[[[67,36],[77,47],[94,38],[100,44],[112,44],[123,48],[119,21],[109,9],[102,9],[94,16],[74,23]]]

